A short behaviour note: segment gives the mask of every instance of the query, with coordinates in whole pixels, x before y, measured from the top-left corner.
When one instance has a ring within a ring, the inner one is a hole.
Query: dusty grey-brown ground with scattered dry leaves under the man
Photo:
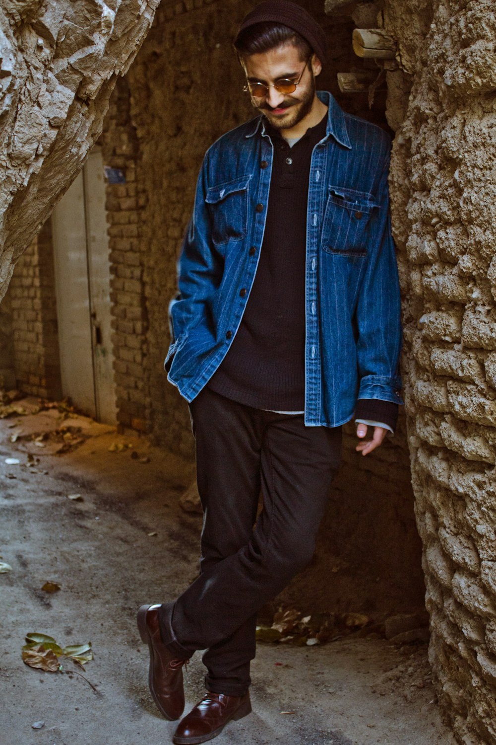
[[[0,574],[0,741],[167,744],[175,723],[149,696],[135,614],[196,576],[201,518],[178,504],[192,466],[70,410],[38,410],[36,399],[13,406],[0,419],[0,560],[11,567]],[[48,580],[58,592],[42,590]],[[28,633],[62,646],[91,641],[94,659],[83,669],[62,657],[56,673],[30,668],[21,656]],[[203,674],[196,655],[187,706],[202,697]],[[229,724],[219,745],[455,742],[426,644],[260,643],[252,677],[254,712]]]

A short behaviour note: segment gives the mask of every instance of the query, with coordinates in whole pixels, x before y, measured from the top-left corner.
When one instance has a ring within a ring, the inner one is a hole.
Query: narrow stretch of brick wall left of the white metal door
[[[50,221],[17,262],[7,295],[16,387],[57,399],[61,390]]]

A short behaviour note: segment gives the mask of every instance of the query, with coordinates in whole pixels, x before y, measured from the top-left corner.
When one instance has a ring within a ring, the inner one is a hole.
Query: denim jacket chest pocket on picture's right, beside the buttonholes
[[[322,247],[337,256],[367,256],[367,226],[379,205],[367,191],[329,186],[323,215]]]

